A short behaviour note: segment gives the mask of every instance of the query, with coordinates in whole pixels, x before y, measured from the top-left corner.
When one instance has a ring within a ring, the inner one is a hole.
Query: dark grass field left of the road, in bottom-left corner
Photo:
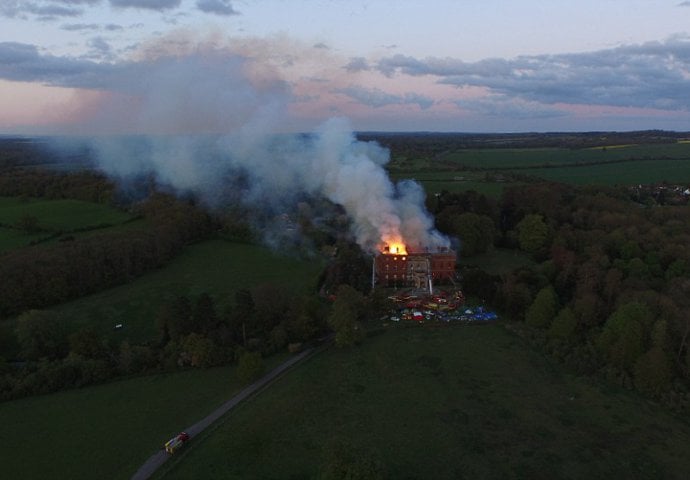
[[[268,359],[267,368],[281,360]],[[128,479],[241,387],[233,367],[220,367],[0,403],[2,477]]]

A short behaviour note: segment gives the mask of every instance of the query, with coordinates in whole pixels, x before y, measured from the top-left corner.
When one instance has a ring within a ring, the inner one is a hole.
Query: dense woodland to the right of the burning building
[[[513,328],[575,371],[689,405],[687,206],[541,183],[507,188],[499,201],[446,193],[432,207],[439,227],[462,238],[461,255],[497,245],[534,260],[502,276],[467,268],[467,293],[522,321]]]

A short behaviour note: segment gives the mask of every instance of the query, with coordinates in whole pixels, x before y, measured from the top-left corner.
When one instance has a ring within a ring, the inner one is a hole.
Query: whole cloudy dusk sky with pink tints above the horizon
[[[0,0],[0,134],[690,130],[690,1]]]

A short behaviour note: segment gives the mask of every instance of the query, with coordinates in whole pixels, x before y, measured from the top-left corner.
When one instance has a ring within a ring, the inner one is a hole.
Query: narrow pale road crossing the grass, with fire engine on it
[[[189,434],[189,441],[191,441],[194,437],[199,435],[204,429],[208,428],[210,425],[212,425],[216,420],[218,420],[220,417],[225,415],[227,412],[232,410],[235,406],[237,406],[240,402],[243,400],[247,399],[247,397],[250,397],[251,395],[257,393],[261,389],[265,388],[268,386],[271,382],[273,382],[275,379],[277,379],[281,374],[286,372],[288,369],[293,367],[295,364],[299,363],[300,361],[304,360],[305,358],[311,356],[314,354],[317,350],[322,348],[321,346],[318,347],[312,347],[309,348],[303,352],[301,352],[298,355],[295,355],[294,357],[290,358],[287,360],[285,363],[280,364],[270,372],[268,372],[266,375],[258,379],[256,382],[252,383],[251,385],[245,387],[240,393],[232,397],[230,400],[225,402],[223,405],[215,409],[213,412],[211,412],[206,418],[198,421],[191,427],[188,427],[184,429],[183,431],[187,432]],[[165,439],[167,440],[167,439]],[[153,475],[158,468],[160,468],[161,465],[163,465],[166,460],[170,455],[165,452],[165,450],[161,449],[158,451],[158,453],[152,455],[146,462],[137,470],[137,472],[132,476],[132,480],[146,480],[151,475]]]

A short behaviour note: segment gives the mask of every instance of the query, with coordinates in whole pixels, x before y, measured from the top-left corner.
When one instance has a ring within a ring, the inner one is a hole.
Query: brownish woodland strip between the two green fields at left
[[[151,228],[77,237],[7,252],[0,262],[0,319],[125,283],[159,268],[214,232],[202,209],[165,194],[134,207]]]

